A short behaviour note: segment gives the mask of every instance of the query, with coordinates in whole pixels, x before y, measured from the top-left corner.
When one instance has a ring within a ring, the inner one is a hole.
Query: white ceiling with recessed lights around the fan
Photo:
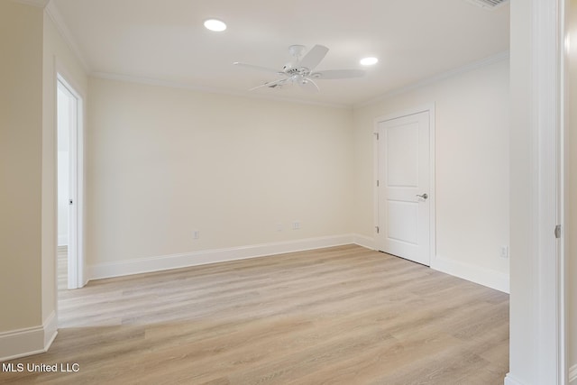
[[[465,0],[51,0],[49,12],[94,76],[133,78],[239,95],[358,105],[508,50],[508,4],[486,10]],[[205,19],[228,24],[209,32]],[[323,44],[318,70],[362,69],[364,78],[247,90],[280,69],[289,46]]]

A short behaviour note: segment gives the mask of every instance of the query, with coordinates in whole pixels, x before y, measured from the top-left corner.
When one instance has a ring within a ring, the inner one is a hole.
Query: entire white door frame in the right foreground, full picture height
[[[526,43],[515,51],[511,74],[522,65],[528,69],[527,74],[514,80],[530,82],[527,100],[514,106],[517,109],[512,115],[513,122],[518,124],[513,133],[522,133],[519,140],[527,142],[523,150],[527,152],[529,164],[525,170],[511,169],[527,179],[525,193],[530,201],[511,207],[511,226],[519,225],[521,219],[528,220],[526,228],[518,231],[516,242],[520,244],[524,235],[531,243],[528,254],[511,255],[509,323],[511,331],[516,333],[511,333],[509,342],[506,385],[529,383],[533,379],[535,383],[564,385],[570,380],[565,343],[567,282],[563,249],[563,17],[566,5],[565,0],[511,3],[512,14],[517,14],[514,32],[518,36],[524,32],[522,42]],[[515,89],[512,94],[517,96]],[[529,105],[530,109],[521,110],[519,105]],[[518,191],[511,187],[512,202]],[[521,210],[526,214],[519,218],[517,213]],[[554,237],[555,225],[562,225],[560,239]],[[517,244],[511,242],[511,247]],[[516,271],[521,264],[532,272],[530,276],[522,277]]]

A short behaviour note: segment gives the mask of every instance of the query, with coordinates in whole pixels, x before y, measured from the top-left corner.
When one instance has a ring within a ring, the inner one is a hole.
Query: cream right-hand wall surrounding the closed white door
[[[444,270],[508,289],[508,60],[354,110],[356,232],[373,237],[373,124],[435,103],[436,251]]]

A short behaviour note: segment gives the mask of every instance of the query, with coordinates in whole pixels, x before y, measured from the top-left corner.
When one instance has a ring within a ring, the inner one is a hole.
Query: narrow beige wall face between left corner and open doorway
[[[42,318],[45,320],[56,309],[57,301],[56,74],[60,72],[82,95],[87,93],[87,75],[47,13],[44,13],[43,37]]]

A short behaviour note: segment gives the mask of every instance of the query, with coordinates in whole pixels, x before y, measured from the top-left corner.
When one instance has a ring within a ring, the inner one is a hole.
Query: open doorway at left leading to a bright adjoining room
[[[60,290],[84,286],[82,255],[83,103],[78,92],[58,75],[58,278]]]

